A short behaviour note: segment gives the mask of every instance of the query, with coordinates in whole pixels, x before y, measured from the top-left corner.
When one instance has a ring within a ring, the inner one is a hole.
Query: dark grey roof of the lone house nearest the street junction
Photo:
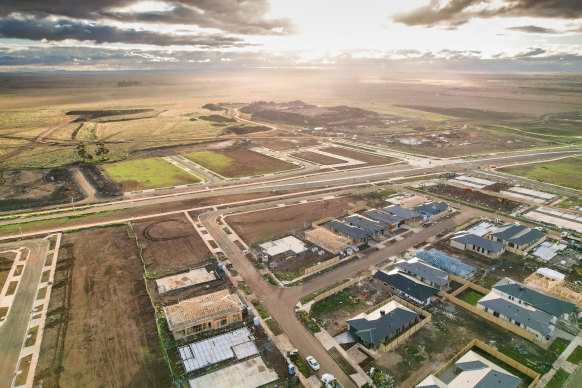
[[[347,321],[347,323],[355,329],[352,330],[353,334],[368,343],[378,345],[384,338],[414,321],[417,317],[417,313],[397,307],[374,320],[356,318]]]

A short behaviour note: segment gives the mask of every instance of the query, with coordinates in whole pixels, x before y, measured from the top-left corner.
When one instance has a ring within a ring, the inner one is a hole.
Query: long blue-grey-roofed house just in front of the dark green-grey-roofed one
[[[537,340],[549,340],[554,334],[557,318],[530,305],[504,298],[495,291],[479,300],[477,308],[535,334]]]

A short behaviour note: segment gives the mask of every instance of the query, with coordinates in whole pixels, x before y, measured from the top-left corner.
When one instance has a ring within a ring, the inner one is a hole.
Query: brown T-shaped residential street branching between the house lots
[[[231,211],[244,211],[247,208],[236,208]],[[419,233],[390,245],[382,250],[367,255],[363,259],[352,261],[339,268],[305,282],[300,286],[281,288],[268,284],[258,273],[256,268],[244,256],[241,250],[228,238],[222,227],[216,223],[216,217],[221,211],[208,212],[200,216],[200,221],[208,229],[208,232],[216,239],[218,245],[223,249],[228,258],[233,262],[234,267],[244,278],[247,285],[262,301],[262,304],[269,310],[271,316],[277,321],[281,329],[285,332],[291,343],[299,349],[303,357],[314,356],[321,365],[321,373],[331,373],[342,383],[344,387],[354,387],[352,380],[339,368],[337,363],[327,353],[325,348],[315,339],[312,334],[303,326],[295,316],[294,306],[304,296],[307,296],[319,289],[331,286],[341,280],[357,276],[361,271],[370,266],[376,265],[390,256],[398,255],[400,252],[427,241],[436,234],[443,232],[450,227],[460,224],[477,213],[474,209],[468,208],[466,211],[455,216],[440,221],[437,225],[427,229],[422,229]]]

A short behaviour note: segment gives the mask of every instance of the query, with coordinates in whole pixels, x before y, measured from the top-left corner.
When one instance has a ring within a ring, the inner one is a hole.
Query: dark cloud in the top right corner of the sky
[[[458,26],[472,18],[494,16],[576,19],[582,16],[580,0],[504,0],[498,8],[487,8],[490,0],[450,0],[445,6],[431,0],[426,6],[395,15],[393,20],[409,26],[442,24]],[[474,7],[471,9],[471,6]]]

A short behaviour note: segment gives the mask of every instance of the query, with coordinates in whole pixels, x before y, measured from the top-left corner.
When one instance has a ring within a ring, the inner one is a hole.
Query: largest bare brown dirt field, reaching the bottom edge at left
[[[35,385],[171,384],[142,276],[127,227],[64,235]]]

